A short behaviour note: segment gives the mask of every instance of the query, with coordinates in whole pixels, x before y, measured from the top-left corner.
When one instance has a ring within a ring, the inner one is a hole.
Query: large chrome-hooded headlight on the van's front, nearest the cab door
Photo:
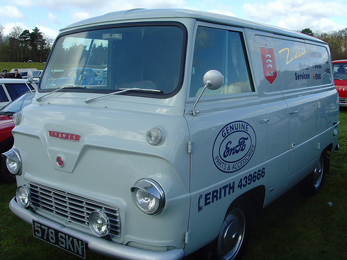
[[[137,209],[142,213],[147,215],[158,215],[164,210],[166,200],[165,193],[160,184],[155,182],[155,180],[148,178],[139,180],[133,187],[131,187],[130,191],[133,193],[133,201]],[[151,209],[144,208],[139,202],[139,193],[148,194],[150,199],[152,199],[154,207]]]

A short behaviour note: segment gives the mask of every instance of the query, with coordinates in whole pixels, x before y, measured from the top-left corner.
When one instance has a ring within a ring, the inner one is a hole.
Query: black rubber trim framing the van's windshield
[[[182,50],[181,50],[181,57],[180,57],[180,77],[178,80],[178,84],[176,86],[176,89],[174,89],[173,92],[168,94],[160,94],[158,93],[151,93],[151,92],[124,92],[121,94],[124,95],[130,95],[130,96],[142,96],[142,97],[148,97],[148,98],[171,98],[172,96],[175,96],[178,92],[180,92],[180,89],[183,86],[183,81],[185,77],[185,62],[186,62],[186,56],[187,56],[187,42],[188,42],[188,36],[187,36],[187,28],[184,24],[180,23],[179,21],[139,21],[139,22],[126,22],[121,24],[104,24],[104,25],[96,25],[96,26],[86,26],[85,28],[78,28],[71,31],[65,31],[58,35],[56,40],[54,41],[53,47],[49,53],[49,57],[46,62],[46,66],[44,67],[44,70],[42,71],[41,78],[44,77],[44,73],[46,73],[47,65],[49,64],[49,60],[51,60],[51,55],[53,53],[53,50],[56,48],[56,44],[58,40],[61,37],[65,37],[67,35],[73,35],[75,33],[83,33],[87,31],[96,31],[101,29],[110,29],[110,28],[125,28],[125,27],[138,27],[138,26],[177,26],[180,28],[183,32],[183,42],[182,42]],[[57,91],[59,88],[52,88],[52,89],[42,89],[41,88],[41,80],[40,85],[37,87],[37,92],[39,93],[49,93],[53,91]],[[83,92],[83,93],[95,93],[95,94],[110,94],[111,92],[114,92],[113,90],[108,89],[74,89],[74,88],[67,88],[67,89],[61,89],[60,92]]]

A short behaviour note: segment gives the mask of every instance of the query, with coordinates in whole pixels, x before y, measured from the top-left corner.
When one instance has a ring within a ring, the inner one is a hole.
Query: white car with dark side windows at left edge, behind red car
[[[25,79],[0,78],[0,108],[8,105],[24,92],[36,88]]]

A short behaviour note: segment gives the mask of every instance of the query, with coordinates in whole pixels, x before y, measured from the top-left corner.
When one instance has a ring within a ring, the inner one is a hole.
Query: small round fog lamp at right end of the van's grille
[[[99,209],[90,214],[89,227],[95,236],[106,236],[110,232],[110,220],[108,216]]]

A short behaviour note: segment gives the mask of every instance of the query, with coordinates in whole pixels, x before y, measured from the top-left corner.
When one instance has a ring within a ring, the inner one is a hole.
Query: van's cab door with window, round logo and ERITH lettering
[[[266,105],[253,87],[243,39],[243,31],[234,28],[202,23],[196,27],[185,112],[192,141],[192,239],[187,247],[214,239],[231,202],[261,184],[260,175],[254,182],[248,176],[262,168],[265,173]],[[203,89],[203,76],[212,69],[223,74],[223,85],[205,89],[193,116],[189,112]]]

